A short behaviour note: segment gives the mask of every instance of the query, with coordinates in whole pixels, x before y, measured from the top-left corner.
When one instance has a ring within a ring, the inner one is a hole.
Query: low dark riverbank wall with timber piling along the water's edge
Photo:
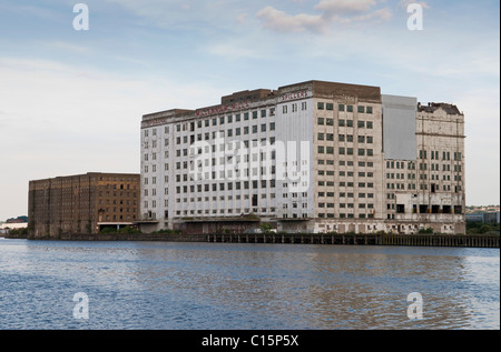
[[[61,234],[60,238],[10,237],[6,239],[59,241],[161,241],[161,242],[219,242],[219,243],[289,243],[340,245],[406,245],[499,248],[499,235],[448,234],[311,234],[311,233],[253,233],[253,234],[165,234],[165,233],[106,233]]]

